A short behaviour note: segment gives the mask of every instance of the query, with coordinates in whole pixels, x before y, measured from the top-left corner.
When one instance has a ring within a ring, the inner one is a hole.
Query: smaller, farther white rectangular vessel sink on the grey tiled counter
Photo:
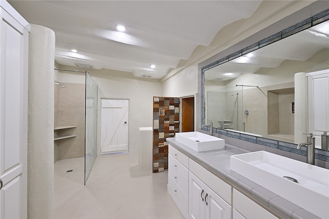
[[[194,151],[211,151],[225,148],[225,140],[200,132],[176,133],[176,141],[185,144]]]

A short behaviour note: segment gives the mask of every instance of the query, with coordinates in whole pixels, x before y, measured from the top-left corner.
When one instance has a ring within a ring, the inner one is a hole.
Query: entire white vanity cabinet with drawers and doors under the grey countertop
[[[277,218],[170,144],[168,159],[168,193],[185,218]]]

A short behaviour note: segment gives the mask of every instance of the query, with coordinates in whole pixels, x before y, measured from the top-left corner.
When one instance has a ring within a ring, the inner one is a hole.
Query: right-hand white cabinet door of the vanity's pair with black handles
[[[223,200],[219,195],[217,195],[210,188],[206,188],[205,195],[206,204],[206,219],[210,218],[231,218],[231,206]]]

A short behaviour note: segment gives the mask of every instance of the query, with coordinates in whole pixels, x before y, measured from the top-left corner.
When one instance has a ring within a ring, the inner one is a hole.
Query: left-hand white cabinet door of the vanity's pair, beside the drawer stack
[[[204,218],[206,185],[191,172],[189,179],[189,216],[193,219]]]

